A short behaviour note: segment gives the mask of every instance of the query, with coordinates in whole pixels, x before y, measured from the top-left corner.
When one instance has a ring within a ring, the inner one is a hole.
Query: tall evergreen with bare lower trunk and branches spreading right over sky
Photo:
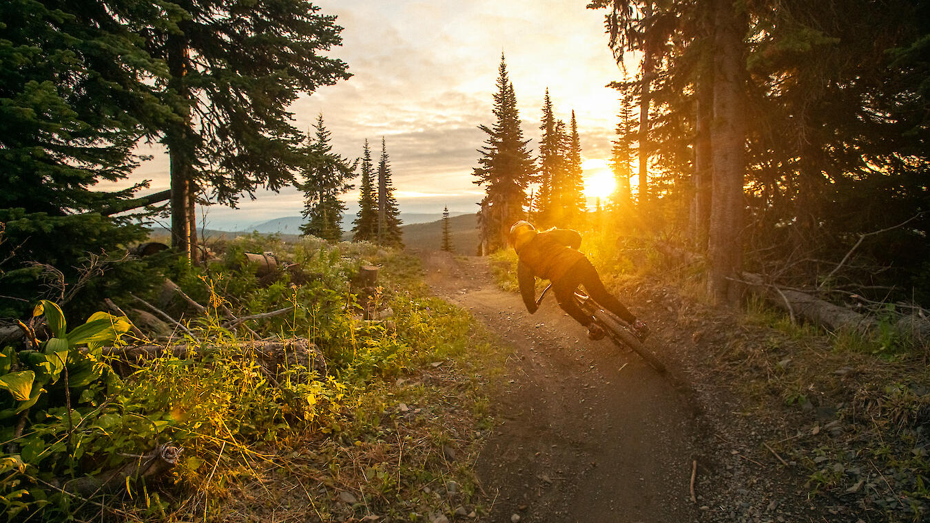
[[[294,183],[304,137],[288,106],[350,74],[321,55],[341,43],[336,17],[308,0],[175,0],[167,8],[171,23],[143,33],[167,64],[159,86],[177,114],[154,134],[169,155],[172,243],[195,257],[197,193],[234,206],[243,192]]]

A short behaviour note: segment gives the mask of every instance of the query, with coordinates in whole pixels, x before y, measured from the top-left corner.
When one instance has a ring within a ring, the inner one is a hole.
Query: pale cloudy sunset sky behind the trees
[[[384,137],[402,213],[476,212],[483,188],[472,183],[485,133],[494,124],[500,55],[517,96],[523,130],[536,150],[542,98],[548,87],[556,118],[576,112],[585,176],[606,190],[606,167],[618,101],[609,82],[622,77],[607,48],[604,11],[588,0],[316,0],[344,28],[342,46],[327,56],[349,64],[352,78],[299,98],[296,124],[310,130],[322,113],[336,152],[356,158],[368,139],[373,156]],[[167,156],[158,145],[128,183],[150,179],[168,189]],[[141,194],[141,193],[140,193]],[[206,209],[211,229],[247,229],[262,221],[297,216],[302,195],[294,188],[259,191],[233,210]],[[357,191],[344,200],[357,211]]]

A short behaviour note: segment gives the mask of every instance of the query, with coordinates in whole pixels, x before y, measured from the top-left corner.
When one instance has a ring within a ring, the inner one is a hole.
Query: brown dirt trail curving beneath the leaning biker
[[[498,426],[478,462],[491,521],[697,519],[689,499],[697,424],[668,379],[631,351],[588,340],[554,299],[528,314],[517,294],[495,286],[483,258],[422,257],[435,294],[514,348]]]

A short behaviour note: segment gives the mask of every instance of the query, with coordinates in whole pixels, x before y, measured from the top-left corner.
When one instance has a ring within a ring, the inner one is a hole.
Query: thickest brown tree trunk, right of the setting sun
[[[736,303],[742,264],[745,176],[745,44],[747,19],[733,0],[714,0],[713,187],[708,292],[715,303]]]

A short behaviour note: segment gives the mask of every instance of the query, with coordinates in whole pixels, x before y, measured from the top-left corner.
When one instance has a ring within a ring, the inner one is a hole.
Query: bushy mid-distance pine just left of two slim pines
[[[315,139],[311,139],[307,148],[307,163],[302,170],[304,181],[299,185],[304,193],[303,217],[307,218],[300,232],[339,242],[342,238],[339,222],[346,210],[339,196],[352,190],[349,180],[355,177],[355,163],[333,152],[329,144],[331,133],[323,124],[323,114],[317,117],[313,128],[316,129]]]

